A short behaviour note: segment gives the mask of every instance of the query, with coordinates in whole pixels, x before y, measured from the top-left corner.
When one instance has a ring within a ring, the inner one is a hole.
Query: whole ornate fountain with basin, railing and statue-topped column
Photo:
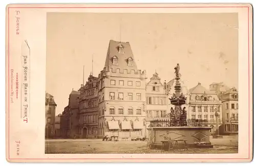
[[[187,119],[186,98],[181,92],[180,65],[175,69],[175,93],[169,99],[174,108],[170,108],[169,119],[152,121],[148,130],[148,145],[150,148],[157,148],[162,145],[163,140],[186,140],[188,147],[212,148],[209,140],[210,129],[207,120]]]

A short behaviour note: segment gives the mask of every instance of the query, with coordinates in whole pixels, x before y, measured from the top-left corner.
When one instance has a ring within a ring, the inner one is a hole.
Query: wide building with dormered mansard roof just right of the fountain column
[[[215,92],[208,91],[201,83],[189,89],[189,108],[187,117],[189,119],[208,120],[211,126],[211,133],[215,133],[222,125],[222,103]],[[216,128],[215,111],[219,113],[219,127]]]

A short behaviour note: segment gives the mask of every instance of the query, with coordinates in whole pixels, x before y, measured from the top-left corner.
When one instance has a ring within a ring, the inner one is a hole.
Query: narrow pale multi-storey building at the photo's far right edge
[[[238,134],[238,90],[233,87],[221,95],[222,121],[220,133],[223,135]]]

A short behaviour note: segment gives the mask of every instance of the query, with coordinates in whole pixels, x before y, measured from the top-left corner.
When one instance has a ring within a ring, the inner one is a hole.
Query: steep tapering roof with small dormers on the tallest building
[[[119,49],[123,49],[123,53],[119,52]],[[113,57],[117,57],[118,64],[113,64]],[[132,66],[128,66],[128,59],[132,58],[134,60],[132,48],[129,42],[119,42],[110,40],[108,53],[106,54],[105,66],[104,67],[113,67],[113,68],[127,68],[137,70],[137,65],[133,61]]]

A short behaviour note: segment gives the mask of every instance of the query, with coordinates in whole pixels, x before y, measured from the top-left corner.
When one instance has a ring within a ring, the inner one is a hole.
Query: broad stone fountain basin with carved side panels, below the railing
[[[148,130],[148,145],[159,148],[162,146],[162,140],[186,140],[187,147],[197,147],[198,144],[211,146],[210,143],[210,129],[211,127],[151,127]],[[196,144],[197,143],[197,144]],[[203,147],[203,146],[202,146]],[[212,148],[212,146],[211,146]]]

